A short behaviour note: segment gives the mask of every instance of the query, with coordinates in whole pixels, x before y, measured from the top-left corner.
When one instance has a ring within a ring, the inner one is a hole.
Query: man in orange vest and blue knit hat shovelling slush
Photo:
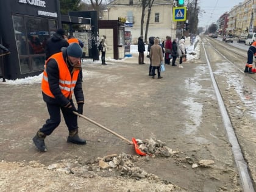
[[[47,151],[44,138],[51,135],[60,124],[60,111],[62,111],[69,131],[67,141],[75,144],[86,144],[86,141],[78,136],[77,115],[73,113],[83,113],[84,93],[82,80],[79,76],[81,57],[82,49],[79,44],[71,43],[68,48],[63,48],[61,52],[46,60],[41,89],[50,117],[33,138],[35,146],[41,152]],[[77,109],[74,106],[73,93],[74,98],[76,98]]]

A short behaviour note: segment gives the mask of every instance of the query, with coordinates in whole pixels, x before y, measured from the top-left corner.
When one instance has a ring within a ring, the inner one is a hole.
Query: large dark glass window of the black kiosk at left
[[[21,74],[42,70],[46,40],[57,30],[57,21],[23,15],[12,19]]]

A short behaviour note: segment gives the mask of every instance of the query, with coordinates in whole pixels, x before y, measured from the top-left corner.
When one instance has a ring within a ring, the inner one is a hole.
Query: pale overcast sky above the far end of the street
[[[233,6],[238,5],[244,0],[197,0],[197,4],[201,8],[199,14],[199,27],[209,26],[216,22],[219,17],[232,9]]]

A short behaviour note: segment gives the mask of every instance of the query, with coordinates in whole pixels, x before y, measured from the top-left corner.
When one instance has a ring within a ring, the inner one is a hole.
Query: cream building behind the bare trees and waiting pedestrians
[[[149,29],[147,37],[159,37],[165,40],[166,35],[176,37],[176,21],[172,20],[172,0],[155,0],[151,7]],[[138,40],[141,34],[141,1],[140,0],[115,0],[107,5],[107,11],[103,13],[102,20],[117,20],[119,17],[126,18],[129,23],[132,41]],[[143,37],[148,18],[146,7],[143,24]]]

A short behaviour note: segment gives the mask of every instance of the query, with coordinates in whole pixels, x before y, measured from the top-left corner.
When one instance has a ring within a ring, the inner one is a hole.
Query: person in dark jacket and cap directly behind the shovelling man
[[[68,45],[69,43],[66,40],[65,30],[58,29],[57,32],[46,41],[46,60],[51,57],[51,55],[60,52],[63,47],[67,48]]]

